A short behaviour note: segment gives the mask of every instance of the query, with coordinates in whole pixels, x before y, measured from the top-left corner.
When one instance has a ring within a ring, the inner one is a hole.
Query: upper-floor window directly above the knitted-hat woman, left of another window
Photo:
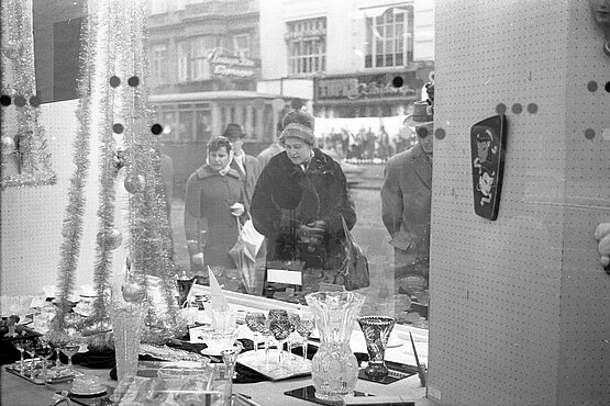
[[[290,74],[326,70],[326,18],[289,22],[285,40]]]

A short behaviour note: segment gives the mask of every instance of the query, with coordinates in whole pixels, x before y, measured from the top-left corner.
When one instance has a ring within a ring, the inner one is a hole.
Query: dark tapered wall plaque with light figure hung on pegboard
[[[470,129],[475,213],[488,219],[498,217],[506,132],[507,120],[503,114],[480,121]]]

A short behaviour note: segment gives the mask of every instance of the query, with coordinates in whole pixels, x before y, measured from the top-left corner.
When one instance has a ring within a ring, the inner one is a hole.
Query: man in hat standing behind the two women
[[[242,146],[244,145],[245,134],[242,131],[242,126],[239,124],[228,124],[226,129],[222,134],[231,142],[231,147],[233,148],[233,160],[231,161],[231,168],[235,169],[240,173],[240,178],[244,184],[246,206],[249,207],[252,202],[252,194],[254,193],[254,188],[256,187],[256,181],[260,174],[260,165],[258,159],[253,156],[247,155]]]

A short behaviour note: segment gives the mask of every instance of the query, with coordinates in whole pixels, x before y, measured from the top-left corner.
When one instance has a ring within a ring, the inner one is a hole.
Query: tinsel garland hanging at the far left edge
[[[38,123],[31,0],[2,0],[1,19],[2,95],[12,103],[1,108],[0,188],[54,184],[57,177]]]

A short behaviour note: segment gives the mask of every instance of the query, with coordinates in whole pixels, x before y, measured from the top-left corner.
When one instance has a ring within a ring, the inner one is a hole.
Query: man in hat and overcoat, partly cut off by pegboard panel
[[[388,160],[381,187],[381,218],[391,236],[395,279],[428,286],[430,210],[432,198],[432,139],[434,117],[425,101],[413,103],[406,119],[417,143]],[[411,281],[412,282],[412,281]]]

